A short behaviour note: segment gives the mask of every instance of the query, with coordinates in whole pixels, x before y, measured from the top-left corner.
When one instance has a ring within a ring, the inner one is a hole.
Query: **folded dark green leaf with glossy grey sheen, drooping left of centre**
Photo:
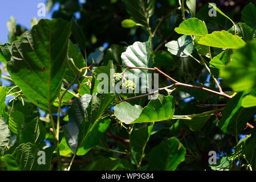
[[[114,99],[113,94],[94,93],[92,96],[85,94],[82,98],[73,101],[68,110],[69,121],[64,126],[64,132],[68,146],[74,153],[84,155],[97,144],[110,122],[101,121],[100,117]],[[90,136],[94,137],[89,138]]]

